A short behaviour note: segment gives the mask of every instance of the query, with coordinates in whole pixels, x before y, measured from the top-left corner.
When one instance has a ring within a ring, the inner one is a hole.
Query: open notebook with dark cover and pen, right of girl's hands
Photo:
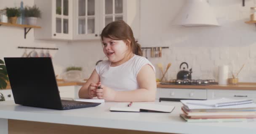
[[[175,106],[154,103],[133,103],[130,107],[128,107],[128,103],[118,103],[117,105],[110,107],[109,111],[171,113],[174,108]]]

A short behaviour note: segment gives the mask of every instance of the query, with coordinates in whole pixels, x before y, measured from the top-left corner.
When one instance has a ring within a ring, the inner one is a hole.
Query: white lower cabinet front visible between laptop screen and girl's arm
[[[75,98],[75,86],[60,86],[59,93],[63,98]]]

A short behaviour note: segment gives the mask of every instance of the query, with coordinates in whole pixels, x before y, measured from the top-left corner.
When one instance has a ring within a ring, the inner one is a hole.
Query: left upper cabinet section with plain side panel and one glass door
[[[35,0],[35,5],[42,12],[37,25],[43,27],[34,30],[35,39],[72,40],[72,0]]]

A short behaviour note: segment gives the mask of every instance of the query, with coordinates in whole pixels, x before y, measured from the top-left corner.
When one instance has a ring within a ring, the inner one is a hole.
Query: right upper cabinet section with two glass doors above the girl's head
[[[74,39],[100,39],[108,23],[123,20],[139,36],[139,0],[75,0]]]

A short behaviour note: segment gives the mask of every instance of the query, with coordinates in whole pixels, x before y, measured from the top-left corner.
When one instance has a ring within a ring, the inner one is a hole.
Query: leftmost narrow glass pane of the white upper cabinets
[[[55,33],[69,33],[69,0],[56,0]],[[56,36],[56,34],[54,34]]]

